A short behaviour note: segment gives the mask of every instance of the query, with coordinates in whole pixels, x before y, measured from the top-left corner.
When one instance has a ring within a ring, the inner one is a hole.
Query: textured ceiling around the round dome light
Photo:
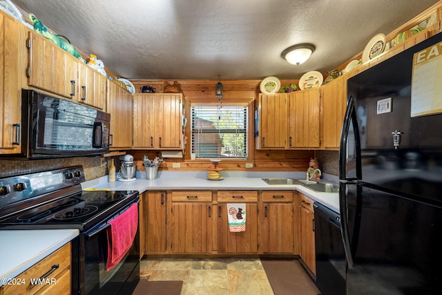
[[[127,79],[325,74],[436,0],[12,0]],[[300,66],[285,48],[311,43]]]

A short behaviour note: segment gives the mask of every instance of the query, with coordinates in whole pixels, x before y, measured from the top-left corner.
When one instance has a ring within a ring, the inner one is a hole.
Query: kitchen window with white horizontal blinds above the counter
[[[247,159],[247,103],[191,105],[191,153],[196,159]]]

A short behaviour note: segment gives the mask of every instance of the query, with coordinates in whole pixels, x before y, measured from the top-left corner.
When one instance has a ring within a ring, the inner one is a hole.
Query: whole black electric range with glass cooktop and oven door
[[[0,230],[79,229],[71,240],[71,294],[131,294],[140,280],[139,237],[113,269],[106,265],[110,222],[138,206],[139,193],[82,191],[84,181],[82,166],[0,178]]]

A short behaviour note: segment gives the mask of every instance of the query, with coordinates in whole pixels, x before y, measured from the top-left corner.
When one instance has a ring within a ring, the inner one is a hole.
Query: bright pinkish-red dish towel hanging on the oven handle
[[[106,269],[111,270],[117,265],[127,251],[131,249],[138,227],[138,204],[108,222],[108,260]]]

